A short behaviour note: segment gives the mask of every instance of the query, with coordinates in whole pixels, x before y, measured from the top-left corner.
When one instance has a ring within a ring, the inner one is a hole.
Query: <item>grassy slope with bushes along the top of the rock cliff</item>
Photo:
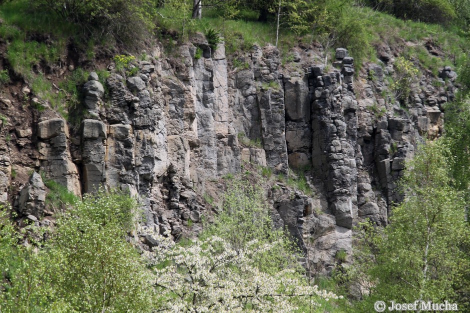
[[[356,67],[390,52],[386,51],[390,46],[392,53],[418,60],[434,75],[444,65],[458,66],[468,46],[467,16],[460,16],[464,14],[457,5],[460,1],[453,1],[452,7],[436,1],[429,8],[421,3],[425,1],[407,1],[421,12],[408,17],[440,23],[394,17],[386,12],[406,17],[400,12],[408,4],[390,7],[381,0],[281,1],[280,7],[263,0],[236,4],[209,0],[201,8],[201,18],[195,19],[191,18],[192,4],[181,0],[164,5],[120,0],[109,7],[97,7],[99,1],[84,7],[73,7],[74,1],[69,0],[1,2],[0,70],[30,83],[39,73],[56,74],[63,64],[90,67],[121,52],[140,55],[155,42],[161,42],[171,55],[174,46],[191,40],[197,31],[212,36],[209,41],[222,36],[228,54],[249,50],[254,43],[277,43],[281,56],[288,60],[294,46],[325,52],[345,47]]]

